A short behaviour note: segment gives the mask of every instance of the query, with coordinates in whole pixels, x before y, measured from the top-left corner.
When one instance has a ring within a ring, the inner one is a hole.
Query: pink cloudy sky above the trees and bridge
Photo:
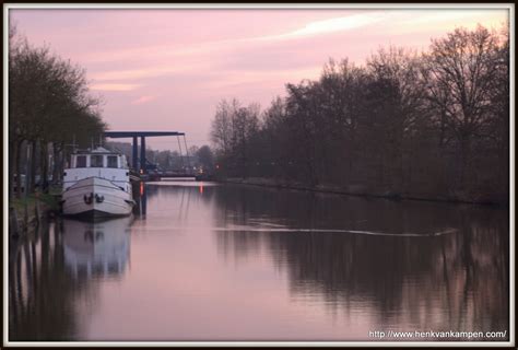
[[[172,130],[210,143],[222,98],[269,106],[285,83],[317,79],[329,58],[363,65],[381,46],[426,49],[431,38],[508,9],[11,9],[28,42],[86,69],[111,130]],[[128,142],[130,140],[127,140]],[[172,138],[149,139],[177,150]]]

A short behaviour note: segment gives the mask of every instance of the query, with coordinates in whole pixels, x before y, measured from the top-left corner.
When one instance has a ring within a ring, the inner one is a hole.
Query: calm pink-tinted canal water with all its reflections
[[[57,219],[10,247],[10,340],[509,338],[506,210],[196,182],[142,191],[130,218]]]

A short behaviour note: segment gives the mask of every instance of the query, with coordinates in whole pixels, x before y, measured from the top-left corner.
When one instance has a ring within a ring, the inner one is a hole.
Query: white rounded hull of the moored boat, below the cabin
[[[62,213],[76,217],[129,215],[134,201],[131,190],[126,191],[108,179],[87,177],[79,180],[62,194]]]

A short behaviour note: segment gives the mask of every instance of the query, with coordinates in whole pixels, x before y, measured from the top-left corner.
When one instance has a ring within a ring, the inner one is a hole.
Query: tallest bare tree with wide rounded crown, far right
[[[432,42],[425,56],[428,98],[444,117],[460,148],[460,185],[470,187],[474,176],[473,141],[494,119],[492,86],[498,73],[497,37],[478,26],[457,28]]]

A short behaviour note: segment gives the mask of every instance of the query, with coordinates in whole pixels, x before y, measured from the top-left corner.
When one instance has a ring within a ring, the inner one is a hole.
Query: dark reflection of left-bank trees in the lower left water
[[[11,341],[74,339],[75,300],[92,292],[67,271],[59,225],[44,224],[39,233],[39,238],[27,237],[10,254]]]

